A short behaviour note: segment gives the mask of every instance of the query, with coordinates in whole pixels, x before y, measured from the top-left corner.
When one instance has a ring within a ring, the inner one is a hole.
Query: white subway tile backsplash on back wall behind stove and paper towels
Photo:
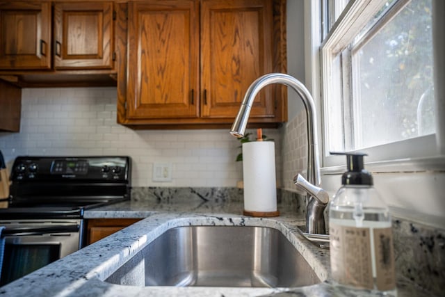
[[[116,123],[116,88],[25,88],[20,133],[0,132],[10,164],[18,155],[129,155],[133,186],[235,186],[240,143],[228,129],[132,130]],[[281,177],[280,130],[275,140]],[[172,164],[172,182],[152,182],[154,162]]]

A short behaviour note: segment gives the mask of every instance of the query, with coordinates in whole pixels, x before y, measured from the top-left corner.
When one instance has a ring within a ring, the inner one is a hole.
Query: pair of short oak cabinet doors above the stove
[[[52,21],[50,1],[1,1],[0,70],[113,68],[113,1],[56,2]]]

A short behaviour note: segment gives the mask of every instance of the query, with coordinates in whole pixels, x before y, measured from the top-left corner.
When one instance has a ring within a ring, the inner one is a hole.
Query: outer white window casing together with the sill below
[[[323,113],[323,68],[321,41],[323,40],[323,24],[321,17],[325,14],[323,1],[336,0],[303,0],[305,3],[305,85],[312,93],[316,102],[318,117],[319,154],[323,156],[321,168],[322,187],[330,193],[336,193],[341,184],[341,175],[346,170],[346,160],[326,158],[325,152],[325,119]],[[351,2],[362,0],[350,0]],[[366,169],[373,172],[374,186],[389,205],[391,215],[426,225],[445,229],[445,1],[433,0],[433,26],[441,30],[433,30],[433,52],[435,54],[435,96],[439,96],[436,127],[438,154],[432,157],[400,159],[399,156],[387,157],[387,161],[369,161],[366,157]],[[439,57],[439,58],[437,58]],[[326,61],[326,60],[325,60]],[[324,61],[324,62],[325,62]],[[437,82],[441,82],[439,85]],[[439,88],[437,87],[439,86]],[[422,143],[421,139],[417,140]],[[398,145],[397,143],[394,145]],[[403,150],[403,144],[400,150]],[[423,151],[421,145],[414,145]],[[383,148],[382,150],[385,150]],[[387,150],[390,152],[390,150]]]

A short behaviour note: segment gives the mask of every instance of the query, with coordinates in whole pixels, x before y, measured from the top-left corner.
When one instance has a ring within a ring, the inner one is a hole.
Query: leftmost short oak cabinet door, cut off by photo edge
[[[0,2],[0,69],[51,67],[51,2]]]

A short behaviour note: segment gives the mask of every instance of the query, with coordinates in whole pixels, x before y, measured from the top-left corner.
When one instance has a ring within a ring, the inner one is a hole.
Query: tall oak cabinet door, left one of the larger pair
[[[198,2],[129,2],[128,22],[127,118],[197,118]]]

